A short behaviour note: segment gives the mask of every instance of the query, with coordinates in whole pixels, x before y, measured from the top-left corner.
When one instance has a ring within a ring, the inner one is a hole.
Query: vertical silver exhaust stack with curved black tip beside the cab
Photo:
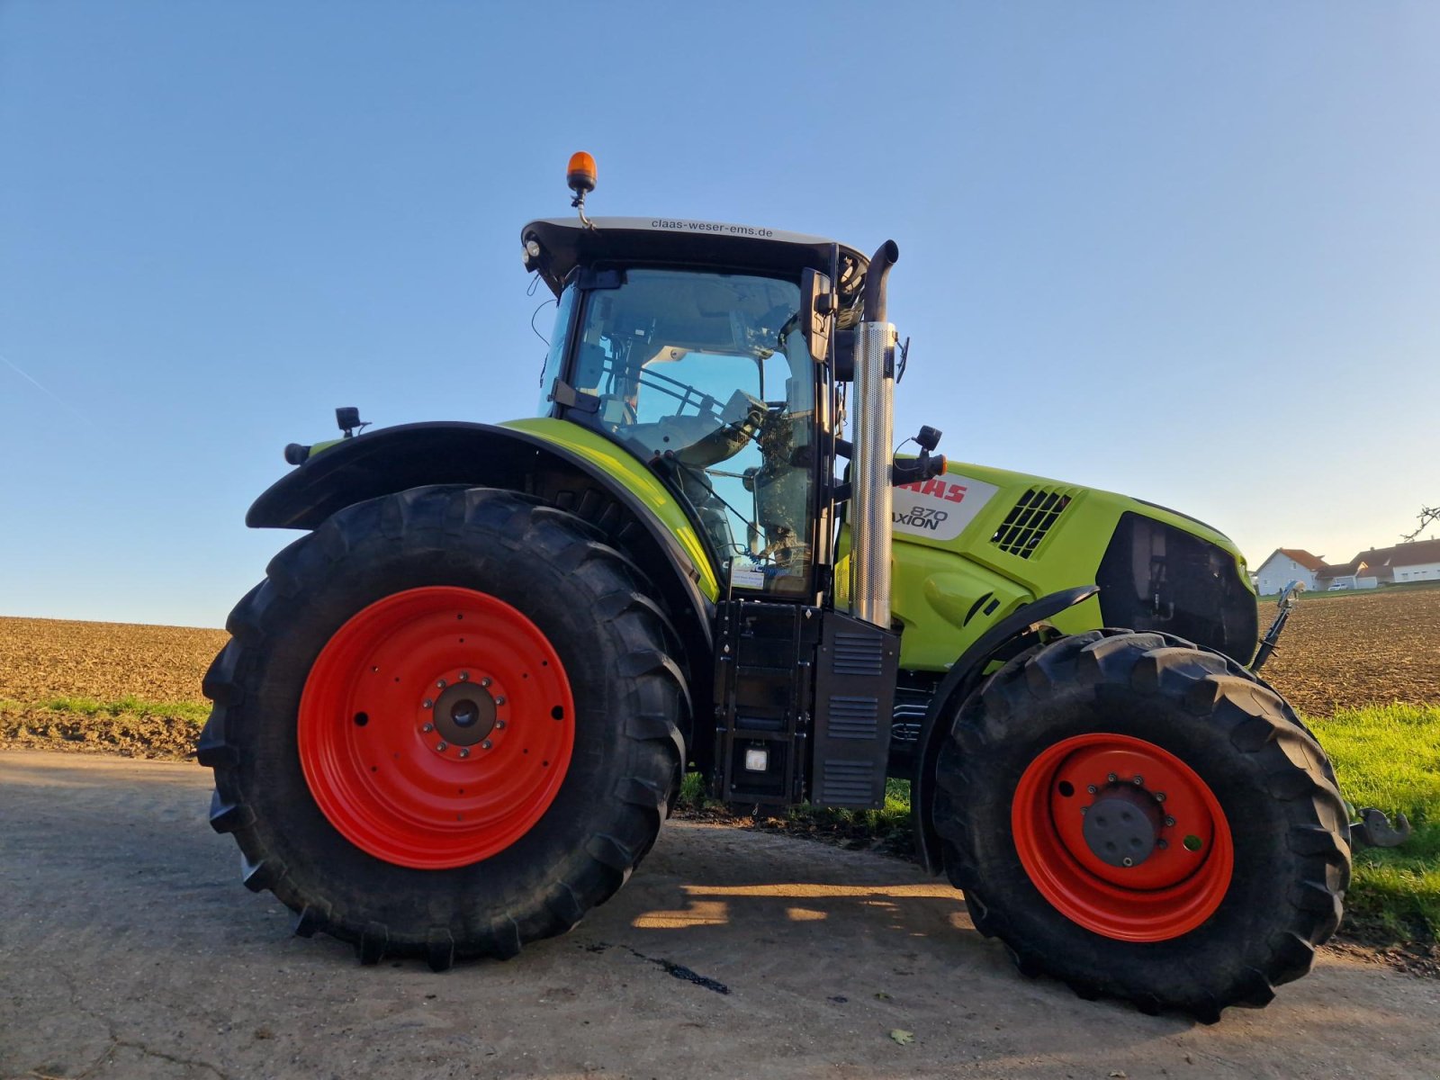
[[[896,328],[886,321],[886,284],[900,258],[886,240],[865,274],[864,321],[855,336],[855,458],[851,497],[850,611],[890,629],[890,528],[894,488]]]

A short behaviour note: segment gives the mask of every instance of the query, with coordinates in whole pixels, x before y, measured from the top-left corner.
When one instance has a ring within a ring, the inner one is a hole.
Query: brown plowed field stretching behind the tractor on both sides
[[[1261,629],[1273,615],[1261,605]],[[200,680],[225,641],[184,626],[0,618],[0,744],[186,756]],[[1440,703],[1440,589],[1308,596],[1264,674],[1312,717]]]

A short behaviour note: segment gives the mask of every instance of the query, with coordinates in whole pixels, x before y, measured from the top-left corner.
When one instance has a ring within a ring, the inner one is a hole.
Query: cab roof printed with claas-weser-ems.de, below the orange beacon
[[[526,258],[556,295],[564,279],[579,265],[662,264],[724,266],[799,274],[814,266],[829,274],[834,240],[798,232],[765,229],[755,225],[704,222],[672,217],[592,217],[593,229],[577,217],[544,217],[520,230],[521,245],[540,245],[539,258]],[[868,259],[854,248],[840,246],[841,307],[860,295]]]

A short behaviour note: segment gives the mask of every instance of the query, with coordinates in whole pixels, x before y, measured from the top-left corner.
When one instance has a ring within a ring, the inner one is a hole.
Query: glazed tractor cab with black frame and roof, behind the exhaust
[[[858,320],[865,258],[668,219],[537,220],[521,240],[557,304],[540,415],[647,462],[720,580],[814,598],[832,547],[831,325]]]

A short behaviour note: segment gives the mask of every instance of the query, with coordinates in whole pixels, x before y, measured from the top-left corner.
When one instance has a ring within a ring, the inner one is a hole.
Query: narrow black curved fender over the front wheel
[[[1048,619],[1089,600],[1100,592],[1099,585],[1077,585],[1061,589],[1038,600],[1027,603],[1014,615],[1008,615],[985,631],[960,658],[950,665],[949,672],[930,698],[924,721],[920,724],[920,739],[914,755],[914,775],[910,779],[910,824],[914,829],[914,850],[929,873],[939,874],[940,837],[935,831],[935,763],[940,756],[940,744],[950,734],[960,703],[981,684],[985,668],[994,660],[1009,660],[1040,641],[1045,629],[1053,629]],[[942,723],[942,720],[945,723]]]

